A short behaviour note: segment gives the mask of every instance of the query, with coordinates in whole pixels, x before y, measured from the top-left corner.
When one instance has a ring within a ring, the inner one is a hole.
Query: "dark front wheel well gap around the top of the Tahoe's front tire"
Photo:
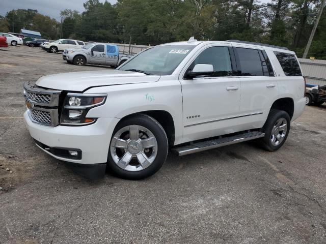
[[[174,126],[174,120],[168,111],[165,110],[146,110],[146,111],[140,111],[137,113],[128,114],[124,117],[122,117],[120,120],[124,120],[126,118],[135,116],[137,114],[146,114],[148,116],[151,116],[152,118],[156,119],[158,123],[163,127],[165,133],[167,134],[169,145],[173,145],[175,141],[175,126]]]

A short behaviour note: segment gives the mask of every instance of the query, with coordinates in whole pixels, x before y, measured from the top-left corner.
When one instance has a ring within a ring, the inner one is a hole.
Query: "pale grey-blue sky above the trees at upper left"
[[[0,15],[5,16],[13,9],[37,9],[40,14],[48,15],[51,18],[60,20],[60,11],[64,9],[83,12],[83,4],[87,0],[0,0]],[[105,2],[105,0],[100,0]],[[107,0],[115,4],[116,0]]]

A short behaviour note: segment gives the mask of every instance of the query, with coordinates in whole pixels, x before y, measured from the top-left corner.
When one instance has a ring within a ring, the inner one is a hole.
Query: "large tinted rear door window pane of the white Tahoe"
[[[259,56],[259,50],[250,48],[236,48],[242,75],[255,76],[263,75],[263,69],[261,66],[261,60]]]

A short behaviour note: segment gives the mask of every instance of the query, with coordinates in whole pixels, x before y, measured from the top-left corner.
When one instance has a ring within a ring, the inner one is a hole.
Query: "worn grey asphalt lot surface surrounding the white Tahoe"
[[[22,83],[109,68],[0,56],[0,243],[326,243],[326,106],[306,107],[274,153],[241,143],[170,154],[145,180],[89,181],[35,146]]]

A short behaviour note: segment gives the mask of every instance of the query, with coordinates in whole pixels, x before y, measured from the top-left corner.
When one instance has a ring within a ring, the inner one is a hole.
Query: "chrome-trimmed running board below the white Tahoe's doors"
[[[198,153],[198,151],[204,151],[216,147],[227,146],[243,141],[250,141],[264,136],[265,133],[259,131],[246,132],[234,136],[222,137],[213,140],[191,142],[189,145],[175,147],[172,149],[172,151],[178,156],[183,156],[187,154]]]

